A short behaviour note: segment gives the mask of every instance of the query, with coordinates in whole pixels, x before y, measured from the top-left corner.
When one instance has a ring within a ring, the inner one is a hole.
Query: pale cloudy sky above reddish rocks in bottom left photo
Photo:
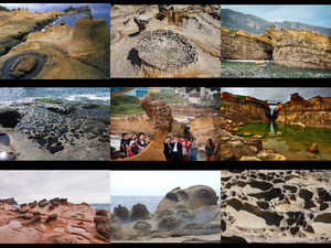
[[[109,171],[0,171],[0,198],[19,204],[67,198],[71,203],[110,202]]]

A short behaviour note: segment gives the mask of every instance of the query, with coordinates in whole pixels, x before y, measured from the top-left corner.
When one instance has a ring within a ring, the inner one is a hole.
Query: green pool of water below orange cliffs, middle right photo
[[[282,137],[276,137],[277,131],[282,132]],[[289,125],[277,125],[275,122],[249,123],[239,128],[234,134],[246,139],[254,134],[263,134],[264,149],[274,149],[288,160],[331,160],[330,128],[307,127],[306,129],[298,129]],[[312,143],[319,144],[319,153],[307,151]]]

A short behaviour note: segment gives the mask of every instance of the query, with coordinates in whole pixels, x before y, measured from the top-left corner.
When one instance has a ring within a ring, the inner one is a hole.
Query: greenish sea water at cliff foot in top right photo
[[[221,77],[245,78],[331,78],[331,71],[291,68],[276,65],[269,61],[264,65],[256,65],[254,61],[222,61]]]

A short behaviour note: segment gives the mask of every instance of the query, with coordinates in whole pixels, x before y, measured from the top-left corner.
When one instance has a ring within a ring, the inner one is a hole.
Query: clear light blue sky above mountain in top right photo
[[[269,22],[293,21],[311,25],[331,28],[331,4],[329,6],[229,6],[222,4],[222,9],[231,9],[245,14],[254,14]],[[222,13],[221,9],[221,13]]]

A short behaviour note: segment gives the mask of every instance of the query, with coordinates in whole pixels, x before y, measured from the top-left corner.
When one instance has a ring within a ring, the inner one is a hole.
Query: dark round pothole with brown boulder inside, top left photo
[[[31,79],[44,67],[46,58],[34,53],[10,57],[1,68],[1,79]]]

